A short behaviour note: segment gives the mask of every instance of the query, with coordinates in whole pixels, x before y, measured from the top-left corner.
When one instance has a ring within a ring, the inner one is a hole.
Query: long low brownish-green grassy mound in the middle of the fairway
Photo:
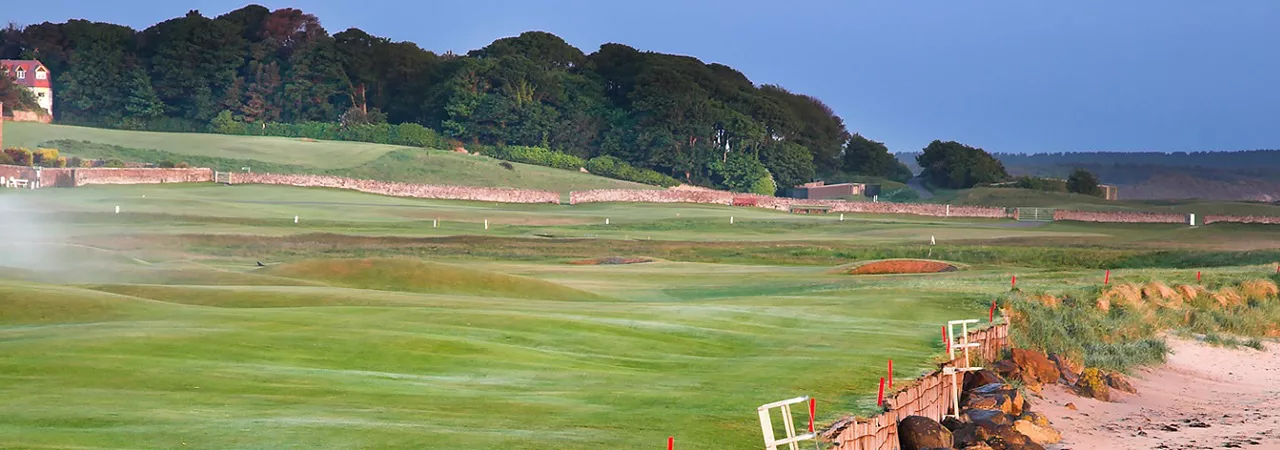
[[[604,299],[554,283],[415,260],[311,260],[255,272],[356,289],[544,300]]]

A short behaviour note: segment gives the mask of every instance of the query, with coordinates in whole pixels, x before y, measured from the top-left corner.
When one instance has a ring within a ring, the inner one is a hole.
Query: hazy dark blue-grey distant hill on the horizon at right
[[[913,170],[919,152],[902,152]],[[1087,169],[1120,187],[1121,199],[1280,199],[1280,150],[1231,152],[1059,152],[995,155],[1015,176],[1065,178]]]

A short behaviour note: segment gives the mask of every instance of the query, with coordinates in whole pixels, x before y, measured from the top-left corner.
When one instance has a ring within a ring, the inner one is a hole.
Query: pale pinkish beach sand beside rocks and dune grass
[[[1048,449],[1280,449],[1280,345],[1169,345],[1165,367],[1133,378],[1138,395],[1111,390],[1112,403],[1102,403],[1046,387],[1037,410],[1062,432]]]

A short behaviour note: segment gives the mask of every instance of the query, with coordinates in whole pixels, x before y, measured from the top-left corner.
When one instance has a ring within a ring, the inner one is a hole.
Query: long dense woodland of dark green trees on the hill
[[[357,28],[330,35],[302,10],[250,5],[142,31],[10,26],[0,58],[40,59],[54,74],[56,120],[69,124],[237,134],[385,124],[399,134],[372,141],[426,146],[435,134],[582,161],[607,156],[596,166],[753,192],[846,174],[911,176],[818,98],[689,56],[621,43],[586,54],[545,32],[436,54]]]

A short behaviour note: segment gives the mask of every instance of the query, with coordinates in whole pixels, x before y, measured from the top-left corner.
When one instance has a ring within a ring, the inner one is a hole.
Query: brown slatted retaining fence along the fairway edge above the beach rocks
[[[986,330],[969,332],[969,341],[977,343],[974,363],[980,361],[997,361],[1001,352],[1009,348],[1009,325],[1000,323]],[[960,367],[961,358],[951,361],[943,367]],[[964,382],[964,376],[956,377],[957,382]],[[942,421],[942,415],[951,408],[952,384],[951,376],[943,375],[941,369],[906,382],[908,387],[886,398],[891,407],[888,412],[869,419],[845,418],[822,431],[820,435],[837,450],[893,450],[899,447],[897,423],[910,415],[922,415],[931,419]]]

